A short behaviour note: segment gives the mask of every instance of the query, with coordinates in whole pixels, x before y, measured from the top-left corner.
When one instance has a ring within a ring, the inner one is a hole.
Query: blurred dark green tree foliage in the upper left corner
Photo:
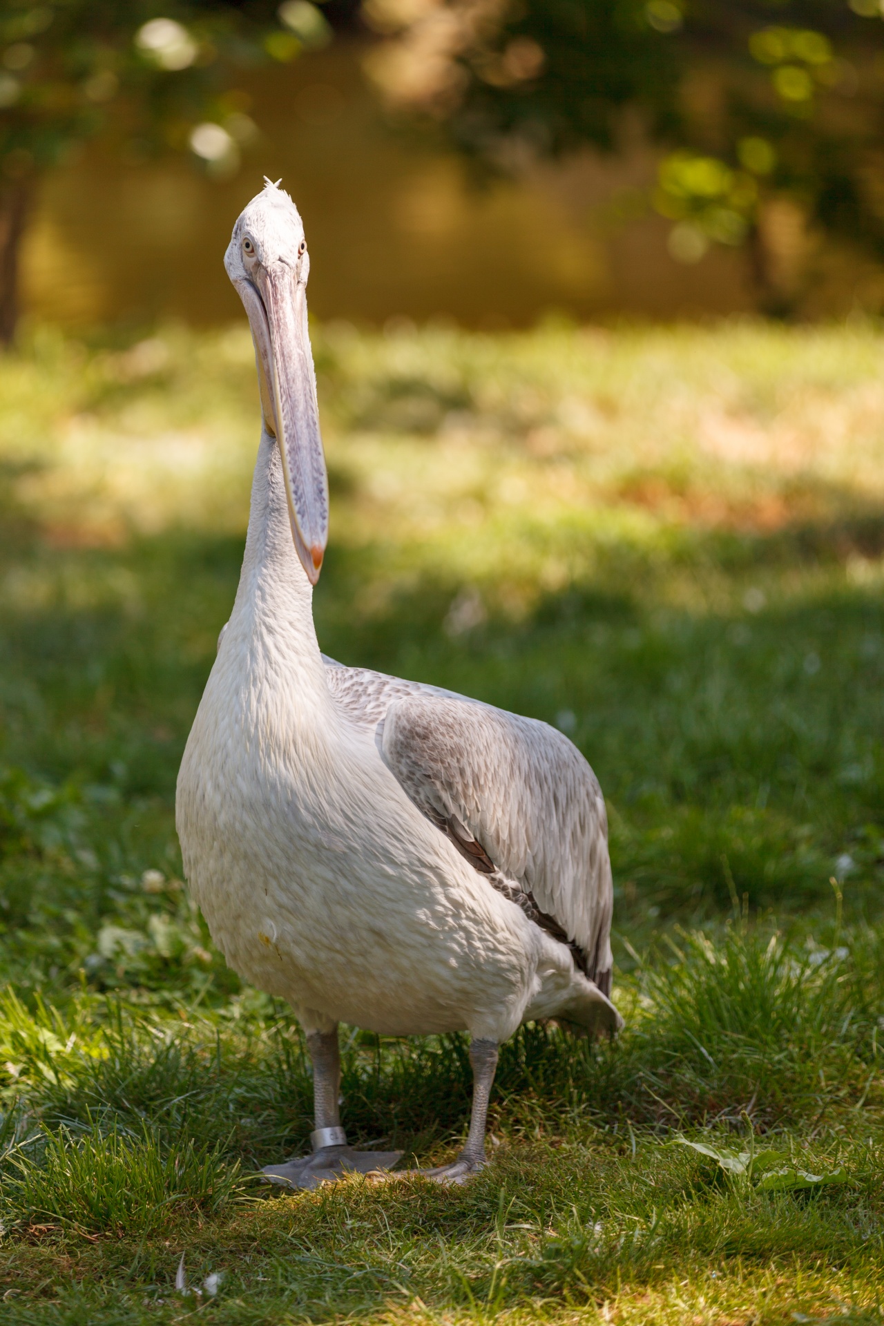
[[[103,135],[130,160],[191,150],[229,174],[257,133],[241,72],[329,36],[309,0],[3,0],[0,341],[15,329],[17,247],[41,172]]]

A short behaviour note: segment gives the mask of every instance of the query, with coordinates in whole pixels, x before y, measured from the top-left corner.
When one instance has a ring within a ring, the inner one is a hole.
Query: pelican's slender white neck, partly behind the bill
[[[280,670],[289,686],[327,696],[313,625],[313,586],[294,549],[280,448],[266,430],[252,480],[245,556],[231,614],[232,634],[243,629],[265,664]]]

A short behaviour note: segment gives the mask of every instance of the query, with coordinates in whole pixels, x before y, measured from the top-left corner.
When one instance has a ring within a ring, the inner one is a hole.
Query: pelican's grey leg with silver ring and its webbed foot
[[[354,1151],[341,1127],[341,1048],[338,1028],[334,1032],[311,1032],[307,1049],[313,1062],[314,1130],[310,1134],[313,1155],[268,1164],[261,1174],[270,1183],[286,1188],[317,1188],[321,1183],[342,1179],[345,1174],[368,1174],[390,1170],[402,1151]]]

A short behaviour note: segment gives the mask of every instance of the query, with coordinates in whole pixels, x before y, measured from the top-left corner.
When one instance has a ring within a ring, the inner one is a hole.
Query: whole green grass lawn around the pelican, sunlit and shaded
[[[0,359],[0,1319],[879,1322],[884,334],[314,350],[322,647],[578,743],[627,1028],[524,1028],[461,1189],[256,1181],[307,1146],[304,1045],[224,968],[174,830],[243,552],[248,330],[34,329]],[[451,1156],[465,1042],[342,1041],[350,1135]]]

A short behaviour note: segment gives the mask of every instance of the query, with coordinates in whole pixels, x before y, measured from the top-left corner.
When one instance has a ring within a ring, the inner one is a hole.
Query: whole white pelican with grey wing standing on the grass
[[[265,179],[224,265],[261,399],[243,569],[176,786],[184,873],[245,981],[286,1000],[313,1067],[311,1151],[266,1166],[289,1188],[388,1175],[341,1123],[341,1022],[469,1033],[463,1183],[486,1163],[501,1042],[529,1020],[612,1036],[612,878],[599,782],[557,728],[325,656],[311,595],[329,484],[307,328],[310,259]]]

